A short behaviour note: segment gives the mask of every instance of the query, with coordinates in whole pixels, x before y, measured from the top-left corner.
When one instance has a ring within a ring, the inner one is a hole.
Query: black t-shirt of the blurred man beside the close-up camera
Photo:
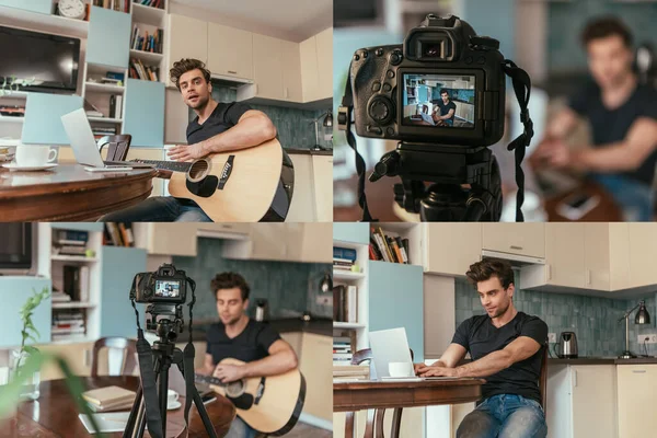
[[[602,104],[602,93],[595,82],[589,82],[576,95],[568,106],[577,114],[588,118],[593,146],[623,141],[630,127],[639,117],[657,119],[657,90],[648,85],[637,85],[630,97],[615,110],[608,110]],[[641,166],[622,174],[647,185],[653,184],[657,164],[657,150],[654,150]]]

